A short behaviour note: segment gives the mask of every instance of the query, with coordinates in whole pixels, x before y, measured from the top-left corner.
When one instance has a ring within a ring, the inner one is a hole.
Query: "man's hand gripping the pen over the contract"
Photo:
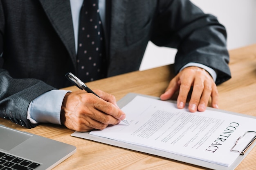
[[[61,106],[61,123],[67,128],[86,132],[118,124],[126,115],[113,95],[95,90],[97,97],[85,91],[67,93]]]

